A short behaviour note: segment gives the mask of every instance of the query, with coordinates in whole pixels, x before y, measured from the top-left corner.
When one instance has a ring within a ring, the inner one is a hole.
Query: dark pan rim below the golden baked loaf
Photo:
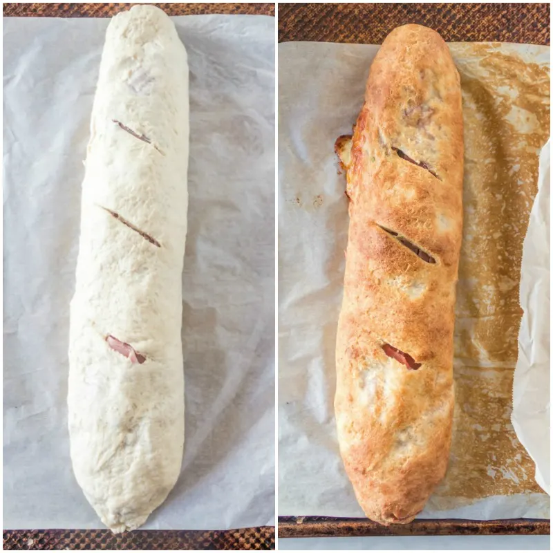
[[[461,518],[420,519],[409,524],[382,526],[367,518],[326,516],[279,516],[279,538],[352,536],[470,536],[547,535],[550,521],[536,518],[508,518],[497,521],[469,521]]]

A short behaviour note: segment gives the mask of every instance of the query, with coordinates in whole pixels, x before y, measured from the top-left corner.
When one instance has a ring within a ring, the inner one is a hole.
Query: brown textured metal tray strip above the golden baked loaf
[[[279,4],[279,42],[382,44],[408,23],[431,27],[447,42],[550,44],[549,3]]]

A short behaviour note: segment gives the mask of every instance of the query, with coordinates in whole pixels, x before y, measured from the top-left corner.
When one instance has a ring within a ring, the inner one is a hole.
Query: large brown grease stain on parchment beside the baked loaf
[[[511,424],[523,240],[550,129],[550,75],[482,44],[451,47],[465,119],[463,242],[457,287],[456,413],[447,476],[453,498],[541,493]],[[457,505],[457,504],[456,504]]]

